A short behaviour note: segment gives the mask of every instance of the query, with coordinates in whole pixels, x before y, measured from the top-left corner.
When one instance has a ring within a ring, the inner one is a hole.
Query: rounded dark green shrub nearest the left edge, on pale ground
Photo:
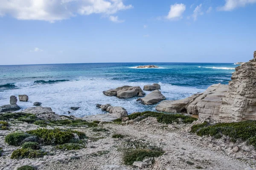
[[[30,135],[23,132],[14,132],[6,135],[5,142],[9,145],[19,146],[20,143]]]

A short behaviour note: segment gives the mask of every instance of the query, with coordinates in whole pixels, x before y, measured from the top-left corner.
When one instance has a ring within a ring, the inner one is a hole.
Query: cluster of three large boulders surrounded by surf
[[[138,98],[137,101],[141,101],[142,104],[157,104],[158,102],[165,100],[166,98],[159,91],[161,86],[159,84],[145,85],[143,90],[153,91],[146,95],[144,98]],[[109,89],[103,91],[103,94],[107,96],[116,96],[118,98],[133,98],[133,97],[143,97],[145,93],[140,88],[140,86],[122,86],[116,89]]]

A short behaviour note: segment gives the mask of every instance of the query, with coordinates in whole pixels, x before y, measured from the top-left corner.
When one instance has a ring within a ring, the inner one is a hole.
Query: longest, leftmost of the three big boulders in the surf
[[[135,96],[144,96],[145,93],[140,88],[140,86],[122,86],[117,87],[116,89],[109,89],[103,91],[104,95],[107,96],[116,96],[118,98],[132,98]]]

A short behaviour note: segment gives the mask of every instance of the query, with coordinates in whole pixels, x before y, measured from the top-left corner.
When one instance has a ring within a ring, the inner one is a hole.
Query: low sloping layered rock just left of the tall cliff
[[[227,90],[227,85],[213,84],[203,93],[177,101],[162,101],[156,110],[169,113],[186,112],[193,115],[200,113],[200,118],[218,118],[221,98]]]

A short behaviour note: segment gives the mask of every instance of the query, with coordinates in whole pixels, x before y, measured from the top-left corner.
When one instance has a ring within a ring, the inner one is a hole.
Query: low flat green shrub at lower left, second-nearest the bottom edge
[[[46,155],[47,153],[40,150],[32,149],[17,149],[13,151],[11,159],[17,158],[40,158]]]

